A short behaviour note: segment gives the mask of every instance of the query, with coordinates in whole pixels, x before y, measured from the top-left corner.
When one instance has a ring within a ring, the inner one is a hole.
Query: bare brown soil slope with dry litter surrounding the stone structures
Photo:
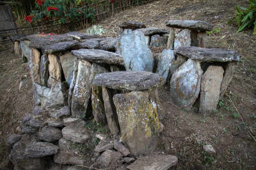
[[[223,105],[217,107],[212,116],[199,115],[199,100],[193,109],[185,111],[169,104],[173,102],[169,99],[168,86],[158,89],[167,116],[162,120],[165,128],[152,155],[176,155],[178,163],[170,169],[256,169],[256,142],[253,139],[256,136],[256,35],[252,35],[251,29],[236,33],[238,27],[235,24],[227,25],[234,16],[236,5],[248,8],[249,3],[245,0],[162,0],[120,12],[99,23],[107,27],[106,36],[114,37],[116,27],[122,21],[141,21],[147,27],[168,28],[165,21],[169,19],[202,20],[214,25],[208,36],[208,48],[236,50],[242,54],[227,93],[220,100]],[[153,53],[162,50],[152,49]],[[19,90],[21,80],[25,83]],[[17,128],[20,118],[31,112],[32,107],[32,83],[26,66],[15,55],[1,53],[0,168],[13,167],[8,160],[10,149],[5,146],[4,140]],[[235,118],[235,113],[240,113],[243,121],[240,117]],[[215,155],[202,153],[206,144],[214,147]],[[94,145],[89,144],[86,150],[87,166],[90,166]],[[126,165],[119,165],[116,169],[126,169]]]

